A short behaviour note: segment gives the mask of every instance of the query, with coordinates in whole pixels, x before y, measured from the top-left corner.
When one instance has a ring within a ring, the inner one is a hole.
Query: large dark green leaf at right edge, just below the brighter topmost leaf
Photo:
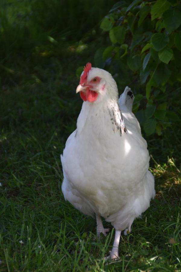
[[[163,18],[165,28],[169,33],[177,29],[181,24],[181,12],[176,8],[165,11]]]

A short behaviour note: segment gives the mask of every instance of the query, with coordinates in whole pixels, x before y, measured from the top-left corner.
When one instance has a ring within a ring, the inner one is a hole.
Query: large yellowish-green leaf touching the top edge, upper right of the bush
[[[151,21],[157,17],[160,17],[169,7],[170,3],[168,1],[157,0],[151,8]]]

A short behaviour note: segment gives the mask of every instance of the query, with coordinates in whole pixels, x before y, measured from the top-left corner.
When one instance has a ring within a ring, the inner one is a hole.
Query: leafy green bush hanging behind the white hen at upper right
[[[119,1],[100,25],[112,45],[96,51],[95,65],[121,74],[121,85],[131,78],[139,87],[133,111],[147,135],[179,119],[180,25],[181,2],[174,0]]]

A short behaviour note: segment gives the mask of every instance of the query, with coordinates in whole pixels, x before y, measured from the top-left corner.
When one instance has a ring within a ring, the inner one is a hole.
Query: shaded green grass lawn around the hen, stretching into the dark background
[[[94,64],[95,47],[107,42],[98,27],[93,29],[100,19],[88,30],[81,29],[81,41],[78,32],[74,40],[70,38],[74,22],[66,31],[55,25],[45,31],[36,16],[30,20],[33,26],[27,21],[14,24],[16,16],[28,20],[32,6],[27,1],[7,2],[2,1],[0,11],[0,271],[181,271],[179,122],[160,136],[144,135],[156,196],[134,221],[132,232],[122,233],[120,260],[105,263],[114,229],[104,222],[111,232],[98,241],[96,220],[65,202],[60,162],[82,105],[75,94],[76,70],[87,61]],[[6,18],[12,22],[7,24]],[[27,36],[22,32],[26,28]],[[121,93],[119,81],[118,87]],[[178,103],[175,107],[180,112]]]

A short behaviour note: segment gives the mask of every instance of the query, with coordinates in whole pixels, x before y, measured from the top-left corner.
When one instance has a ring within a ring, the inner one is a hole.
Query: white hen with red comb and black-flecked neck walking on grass
[[[61,155],[62,192],[76,209],[96,216],[98,237],[109,231],[103,228],[101,216],[112,223],[116,232],[108,258],[115,259],[121,231],[130,231],[155,195],[147,142],[132,113],[131,89],[126,87],[118,100],[110,73],[87,63],[78,92],[84,102],[77,129]]]

